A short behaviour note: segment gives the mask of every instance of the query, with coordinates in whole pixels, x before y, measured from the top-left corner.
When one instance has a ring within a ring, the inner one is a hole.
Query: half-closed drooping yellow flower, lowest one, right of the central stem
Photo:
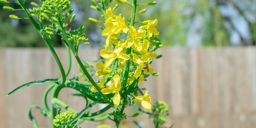
[[[137,96],[135,99],[141,103],[145,110],[151,111],[151,98],[148,96],[148,91],[146,91],[143,96]]]

